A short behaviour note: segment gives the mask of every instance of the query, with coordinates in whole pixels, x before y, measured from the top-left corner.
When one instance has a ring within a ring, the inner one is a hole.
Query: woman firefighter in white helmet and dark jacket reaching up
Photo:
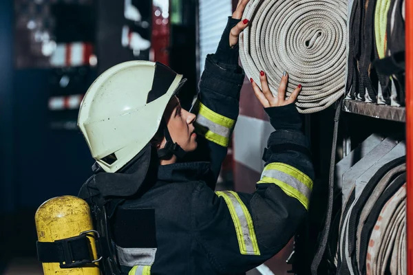
[[[262,90],[252,81],[275,129],[256,191],[214,192],[239,111],[247,3],[207,56],[190,112],[176,96],[182,76],[160,63],[116,65],[85,95],[78,126],[96,164],[79,197],[105,208],[96,226],[110,239],[101,250],[106,270],[120,270],[112,274],[242,274],[284,248],[306,216],[313,164],[294,104],[301,86],[286,99],[287,74],[277,97],[265,72]]]

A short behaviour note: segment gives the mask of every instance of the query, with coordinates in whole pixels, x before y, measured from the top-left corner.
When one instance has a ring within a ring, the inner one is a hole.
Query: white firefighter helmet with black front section
[[[169,100],[185,82],[161,63],[128,61],[101,74],[78,115],[92,157],[114,173],[156,134]]]

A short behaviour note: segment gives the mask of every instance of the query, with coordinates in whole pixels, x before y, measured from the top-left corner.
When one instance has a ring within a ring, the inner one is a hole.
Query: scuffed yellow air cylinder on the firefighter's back
[[[78,236],[93,229],[90,209],[86,201],[74,196],[55,197],[45,201],[36,211],[37,238],[41,242],[53,242]],[[89,234],[88,234],[89,235]],[[97,259],[94,238],[87,236],[93,258]],[[100,275],[97,264],[81,268],[61,268],[59,263],[42,263],[45,275]]]

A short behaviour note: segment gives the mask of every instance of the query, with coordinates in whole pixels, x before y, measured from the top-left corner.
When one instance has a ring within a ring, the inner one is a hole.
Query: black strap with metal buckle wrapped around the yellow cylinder
[[[41,263],[60,263],[61,268],[74,268],[95,261],[86,234],[54,242],[37,241],[36,246]]]

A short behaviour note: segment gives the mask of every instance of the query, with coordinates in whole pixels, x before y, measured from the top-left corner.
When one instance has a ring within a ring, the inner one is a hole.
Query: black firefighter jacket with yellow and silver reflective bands
[[[314,172],[294,104],[266,109],[275,131],[262,177],[251,182],[256,191],[214,191],[244,80],[237,54],[224,63],[220,55],[218,48],[207,57],[191,110],[197,114],[197,151],[184,162],[156,165],[138,186],[135,159],[124,173],[105,175],[103,183],[97,176],[109,173],[98,173],[79,194],[87,199],[92,182],[108,198],[129,195],[109,216],[125,274],[244,274],[284,248],[306,216]]]

